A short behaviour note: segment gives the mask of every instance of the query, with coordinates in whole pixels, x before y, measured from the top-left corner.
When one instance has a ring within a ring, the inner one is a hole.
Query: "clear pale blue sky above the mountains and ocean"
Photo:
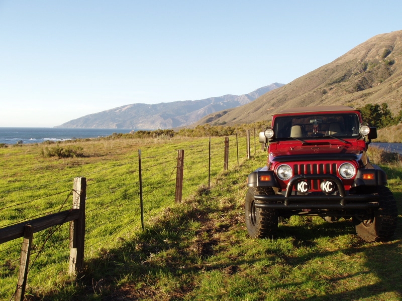
[[[0,0],[0,126],[287,84],[402,30],[400,12],[400,0]]]

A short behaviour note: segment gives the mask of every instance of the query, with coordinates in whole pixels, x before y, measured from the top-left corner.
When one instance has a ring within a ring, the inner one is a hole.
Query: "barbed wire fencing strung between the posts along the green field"
[[[182,198],[188,197],[199,186],[210,187],[211,179],[224,170],[225,160],[228,160],[229,169],[238,165],[239,157],[245,158],[249,152],[250,142],[247,139],[246,134],[236,134],[230,136],[226,144],[222,137],[210,137],[187,147],[182,167]],[[227,155],[223,152],[226,145]],[[174,204],[177,154],[177,149],[165,153],[148,149],[143,156],[139,156],[139,160],[133,159],[81,175],[86,181],[85,258],[95,257],[99,252],[130,239],[133,233],[144,228],[144,220],[152,222],[163,209]],[[69,186],[73,180],[60,179],[0,191],[0,233],[19,224],[29,224],[37,218],[71,211],[70,199],[74,189]],[[24,284],[28,283],[30,290],[39,291],[43,283],[57,286],[58,281],[69,276],[72,222],[70,225],[59,223],[32,234]],[[24,294],[17,294],[19,287],[16,283],[21,277],[21,245],[25,238],[6,242],[2,239],[0,237],[0,298],[23,299]]]

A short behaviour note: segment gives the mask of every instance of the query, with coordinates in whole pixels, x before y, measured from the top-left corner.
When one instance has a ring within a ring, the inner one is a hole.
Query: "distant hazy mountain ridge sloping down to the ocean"
[[[274,83],[243,95],[224,95],[202,100],[169,103],[134,103],[70,120],[56,127],[157,129],[189,125],[216,111],[252,102],[283,86]]]

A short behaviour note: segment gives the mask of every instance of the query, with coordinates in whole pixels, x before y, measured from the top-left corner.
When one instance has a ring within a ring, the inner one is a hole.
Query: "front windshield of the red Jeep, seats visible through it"
[[[360,135],[359,117],[355,113],[277,116],[273,130],[276,139],[340,139],[357,138]]]

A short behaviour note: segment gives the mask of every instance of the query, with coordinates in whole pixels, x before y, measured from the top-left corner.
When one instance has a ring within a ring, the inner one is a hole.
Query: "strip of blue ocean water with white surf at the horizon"
[[[129,133],[131,129],[116,128],[57,128],[57,127],[0,127],[0,143],[16,144],[64,141],[75,138],[106,137],[113,133]]]

